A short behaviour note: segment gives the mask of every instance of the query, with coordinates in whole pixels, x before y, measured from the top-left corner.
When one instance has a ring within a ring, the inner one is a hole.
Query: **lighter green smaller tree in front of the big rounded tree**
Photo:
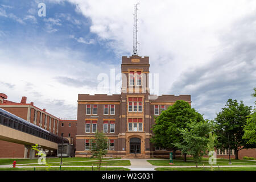
[[[187,123],[187,128],[179,129],[183,142],[175,143],[182,153],[193,156],[196,167],[203,155],[207,154],[210,123],[207,121]]]

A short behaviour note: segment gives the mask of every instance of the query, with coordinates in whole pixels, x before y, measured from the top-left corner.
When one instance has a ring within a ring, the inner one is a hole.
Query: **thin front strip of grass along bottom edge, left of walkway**
[[[34,168],[0,168],[0,171],[34,171]],[[35,171],[46,171],[45,167],[35,168]],[[60,171],[58,167],[50,167],[49,171]],[[63,167],[61,171],[92,171],[92,167]],[[93,171],[98,171],[97,168],[93,168]],[[101,168],[101,171],[105,171],[105,168]],[[107,171],[130,171],[130,169],[123,167],[107,167]]]

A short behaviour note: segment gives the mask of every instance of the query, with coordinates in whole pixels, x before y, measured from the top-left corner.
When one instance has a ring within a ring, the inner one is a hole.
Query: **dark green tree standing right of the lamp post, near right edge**
[[[217,125],[216,134],[218,136],[218,148],[229,148],[228,134],[230,135],[230,149],[235,151],[238,159],[238,151],[243,148],[254,148],[243,139],[243,126],[246,125],[246,117],[251,113],[251,106],[245,106],[242,101],[229,99],[226,107],[217,114],[215,122]]]

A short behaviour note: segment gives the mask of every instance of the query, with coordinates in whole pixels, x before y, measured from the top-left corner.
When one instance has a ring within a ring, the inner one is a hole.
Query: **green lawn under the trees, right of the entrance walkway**
[[[171,166],[169,164],[170,160],[147,160],[150,164],[153,166]],[[193,161],[187,161],[184,162],[183,160],[173,160],[174,166],[196,166],[196,163]],[[217,164],[214,166],[256,166],[255,161],[247,161],[247,160],[236,160],[232,159],[231,160],[232,164],[229,164],[229,160],[226,159],[217,159]],[[197,164],[198,166],[210,166],[208,159],[205,160],[203,159],[200,163]]]

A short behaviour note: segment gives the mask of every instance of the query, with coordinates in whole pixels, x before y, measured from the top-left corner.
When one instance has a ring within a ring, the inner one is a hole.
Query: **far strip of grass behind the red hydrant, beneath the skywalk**
[[[121,159],[121,158],[104,158],[106,159]],[[38,159],[0,159],[0,165],[13,164],[14,160],[16,160],[16,164],[31,164],[38,163]],[[97,160],[96,158],[62,158],[62,162],[78,162],[84,160]],[[47,163],[60,163],[60,158],[47,158]]]

